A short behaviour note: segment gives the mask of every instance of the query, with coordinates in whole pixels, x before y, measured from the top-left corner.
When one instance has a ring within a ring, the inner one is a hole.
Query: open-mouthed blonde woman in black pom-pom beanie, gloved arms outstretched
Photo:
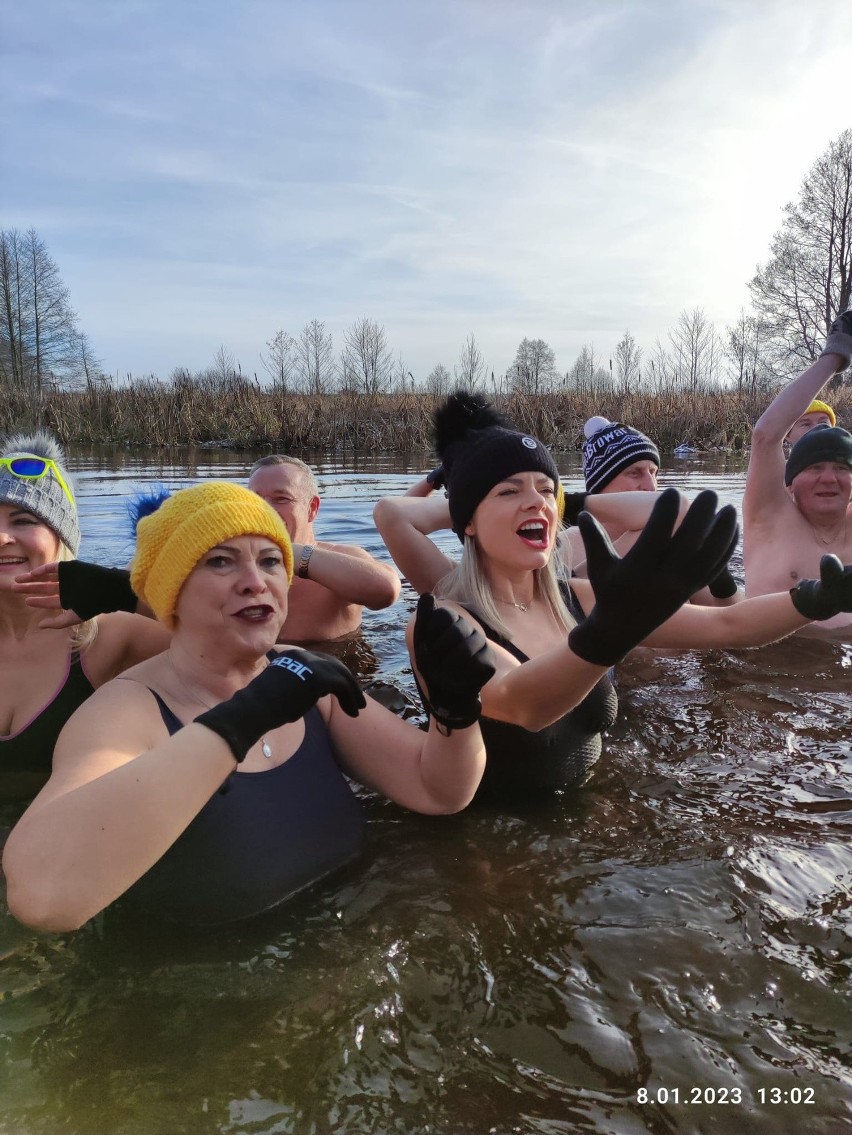
[[[487,760],[480,794],[516,799],[583,783],[616,713],[607,671],[640,642],[757,646],[821,617],[818,612],[852,606],[852,574],[838,563],[824,579],[760,603],[684,606],[736,544],[735,510],[717,512],[714,493],[699,494],[676,531],[680,496],[661,494],[624,558],[581,513],[589,579],[568,587],[554,555],[558,474],[541,442],[464,393],[438,410],[435,427],[446,498],[386,498],[374,518],[415,589],[433,590],[494,646],[497,670],[481,691]],[[452,528],[462,543],[458,564],[429,539],[440,528]],[[411,628],[408,645],[413,650]],[[428,698],[424,704],[431,713]]]

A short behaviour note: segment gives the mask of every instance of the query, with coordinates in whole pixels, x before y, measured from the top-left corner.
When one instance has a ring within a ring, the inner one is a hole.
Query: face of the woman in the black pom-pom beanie
[[[465,535],[486,556],[533,570],[550,558],[559,519],[556,488],[546,473],[515,473],[495,485],[478,505]]]

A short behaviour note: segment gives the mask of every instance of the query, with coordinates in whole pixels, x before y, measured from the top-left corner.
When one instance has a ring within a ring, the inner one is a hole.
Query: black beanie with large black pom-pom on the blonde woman
[[[546,473],[559,484],[556,462],[538,438],[512,429],[483,397],[450,394],[435,414],[435,444],[444,465],[453,531],[464,530],[495,485],[515,473]]]

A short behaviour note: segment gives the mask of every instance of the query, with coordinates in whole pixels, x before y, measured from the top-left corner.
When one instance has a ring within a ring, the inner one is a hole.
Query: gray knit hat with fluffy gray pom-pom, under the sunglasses
[[[36,434],[16,434],[3,442],[2,457],[43,457],[51,461],[71,493],[62,488],[56,469],[48,466],[43,477],[16,476],[8,465],[0,465],[0,504],[25,508],[48,526],[76,556],[79,550],[79,520],[73,499],[70,477],[65,470],[65,454],[59,443],[40,430]]]

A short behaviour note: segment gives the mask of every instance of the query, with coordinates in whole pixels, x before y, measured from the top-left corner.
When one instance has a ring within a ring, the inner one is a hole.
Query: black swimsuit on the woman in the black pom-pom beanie
[[[573,595],[563,590],[563,598],[575,617],[582,619]],[[471,612],[474,614],[473,612]],[[486,638],[505,647],[518,662],[528,656],[475,614]],[[600,756],[600,734],[609,729],[618,712],[618,699],[608,675],[572,711],[538,732],[492,717],[480,718],[486,742],[486,772],[476,798],[501,797],[507,800],[521,794],[552,792],[577,788]]]

